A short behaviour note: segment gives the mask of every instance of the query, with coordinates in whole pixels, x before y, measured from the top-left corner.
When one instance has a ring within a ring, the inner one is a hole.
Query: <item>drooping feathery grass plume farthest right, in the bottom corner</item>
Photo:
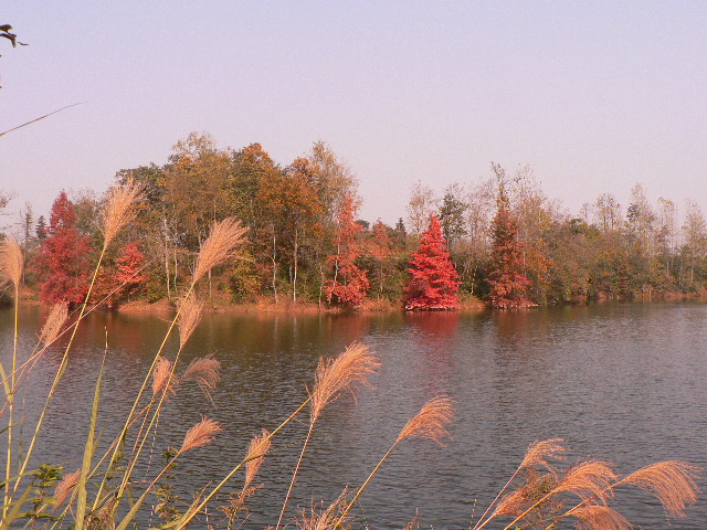
[[[622,483],[653,494],[668,515],[685,517],[685,507],[697,502],[699,488],[695,479],[700,470],[686,462],[658,462],[632,473]]]

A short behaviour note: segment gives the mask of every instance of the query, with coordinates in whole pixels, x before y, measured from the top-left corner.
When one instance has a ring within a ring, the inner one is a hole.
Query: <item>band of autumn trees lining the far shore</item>
[[[602,193],[570,215],[529,167],[492,163],[487,179],[442,197],[418,182],[390,226],[358,218],[357,179],[323,141],[283,166],[260,144],[221,149],[199,134],[178,141],[166,163],[115,179],[141,195],[92,292],[92,303],[110,307],[178,299],[210,227],[233,218],[243,227],[240,255],[200,285],[213,307],[510,308],[699,296],[707,279],[699,206],[688,202],[678,219],[674,202],[652,203],[640,183],[625,206]],[[83,299],[105,201],[62,192],[49,220],[25,205],[10,231],[27,261],[25,298]]]

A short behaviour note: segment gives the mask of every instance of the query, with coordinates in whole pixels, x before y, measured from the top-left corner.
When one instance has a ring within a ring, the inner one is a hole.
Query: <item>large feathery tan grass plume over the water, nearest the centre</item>
[[[319,359],[312,392],[310,424],[314,425],[324,407],[336,401],[341,392],[355,391],[357,384],[368,385],[368,377],[380,367],[369,348],[354,342],[336,359]]]

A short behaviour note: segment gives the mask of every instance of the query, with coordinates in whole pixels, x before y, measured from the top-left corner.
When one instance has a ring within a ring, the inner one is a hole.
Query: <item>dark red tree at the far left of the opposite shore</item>
[[[88,290],[91,246],[88,237],[80,236],[75,225],[76,212],[62,191],[52,205],[46,237],[34,262],[39,276],[44,278],[40,298],[46,304],[81,303]]]

